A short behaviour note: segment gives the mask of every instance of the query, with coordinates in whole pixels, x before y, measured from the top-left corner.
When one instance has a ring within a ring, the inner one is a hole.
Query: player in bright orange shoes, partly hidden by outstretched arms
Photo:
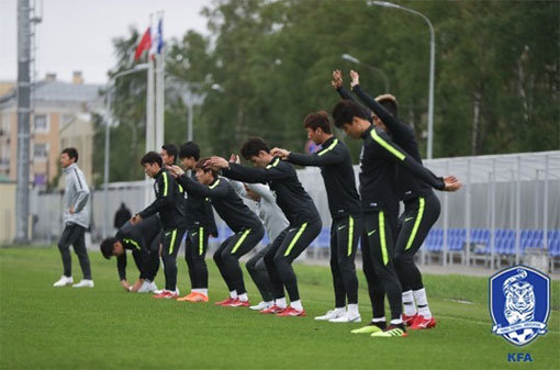
[[[194,142],[181,145],[179,160],[184,170],[191,170],[192,180],[197,180],[195,167],[200,159],[200,148]],[[182,188],[182,187],[181,187]],[[208,197],[187,192],[187,238],[184,240],[184,260],[189,268],[191,292],[177,301],[208,302],[206,250],[210,236],[217,236],[212,203]]]

